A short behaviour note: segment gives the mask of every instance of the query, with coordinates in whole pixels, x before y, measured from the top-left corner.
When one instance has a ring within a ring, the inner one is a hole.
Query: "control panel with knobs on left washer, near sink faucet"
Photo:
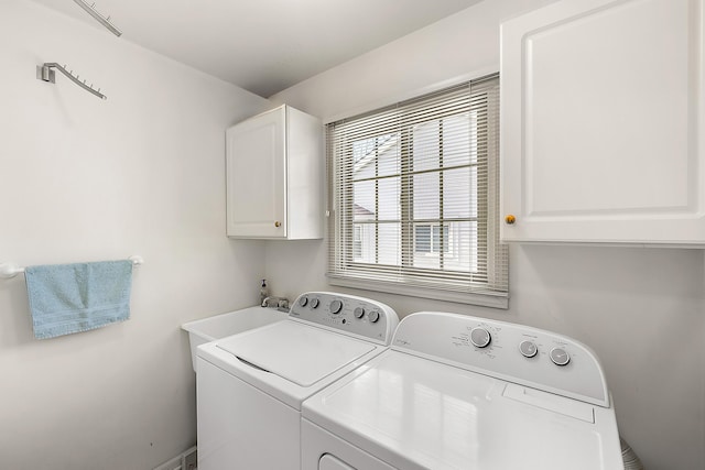
[[[291,306],[289,316],[384,346],[389,346],[399,325],[397,313],[388,305],[333,292],[300,295]]]

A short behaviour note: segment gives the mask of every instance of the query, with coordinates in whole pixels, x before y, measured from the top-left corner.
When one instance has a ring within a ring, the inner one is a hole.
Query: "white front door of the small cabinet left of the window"
[[[228,237],[286,237],[285,109],[228,129]]]

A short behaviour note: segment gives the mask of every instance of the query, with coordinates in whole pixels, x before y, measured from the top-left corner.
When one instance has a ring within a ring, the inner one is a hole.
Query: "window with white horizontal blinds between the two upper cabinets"
[[[332,284],[507,307],[498,81],[327,125]]]

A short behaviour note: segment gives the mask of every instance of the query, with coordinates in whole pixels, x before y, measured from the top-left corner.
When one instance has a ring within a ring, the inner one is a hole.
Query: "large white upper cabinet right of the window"
[[[503,241],[705,244],[704,14],[563,0],[502,24]]]

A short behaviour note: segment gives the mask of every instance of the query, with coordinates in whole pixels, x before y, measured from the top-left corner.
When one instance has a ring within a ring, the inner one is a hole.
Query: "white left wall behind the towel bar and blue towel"
[[[196,441],[180,325],[258,299],[262,243],[225,237],[225,129],[270,103],[26,0],[0,2],[0,263],[144,258],[130,320],[50,340],[0,280],[0,467],[153,468]]]

